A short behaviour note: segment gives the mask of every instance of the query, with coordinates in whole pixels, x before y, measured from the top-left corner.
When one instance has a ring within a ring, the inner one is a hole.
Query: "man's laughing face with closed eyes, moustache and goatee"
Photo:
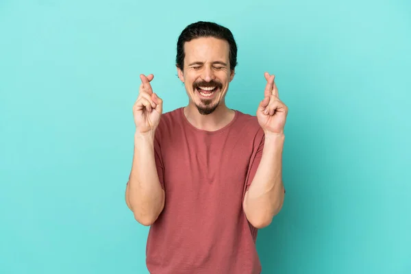
[[[184,45],[184,71],[177,68],[190,103],[201,114],[212,113],[224,103],[234,71],[229,67],[228,42],[216,38],[197,38]]]

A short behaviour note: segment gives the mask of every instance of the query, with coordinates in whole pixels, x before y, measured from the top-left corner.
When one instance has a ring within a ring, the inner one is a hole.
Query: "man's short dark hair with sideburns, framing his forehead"
[[[214,37],[217,39],[226,40],[229,45],[229,67],[234,70],[237,65],[237,45],[232,32],[217,23],[198,21],[188,25],[180,34],[177,40],[177,56],[175,63],[177,68],[184,68],[184,43],[190,42],[192,39],[201,37]]]

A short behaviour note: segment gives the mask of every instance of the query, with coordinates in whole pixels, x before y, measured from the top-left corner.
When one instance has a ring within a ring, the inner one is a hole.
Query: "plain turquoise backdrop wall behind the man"
[[[0,1],[0,273],[147,273],[124,200],[140,73],[188,100],[177,36],[238,42],[227,105],[255,114],[264,71],[290,110],[286,201],[263,273],[411,273],[409,1]]]

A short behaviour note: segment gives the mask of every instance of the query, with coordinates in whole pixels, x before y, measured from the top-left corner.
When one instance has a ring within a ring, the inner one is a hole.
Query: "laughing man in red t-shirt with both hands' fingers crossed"
[[[288,109],[269,73],[256,116],[227,108],[236,58],[229,29],[188,25],[177,42],[176,63],[189,103],[165,114],[150,85],[153,75],[140,75],[125,199],[135,219],[151,226],[150,273],[261,271],[257,230],[271,223],[284,201]]]

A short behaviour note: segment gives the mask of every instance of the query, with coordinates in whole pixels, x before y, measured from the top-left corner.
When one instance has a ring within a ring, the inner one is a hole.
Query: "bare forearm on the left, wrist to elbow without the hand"
[[[143,225],[151,225],[164,208],[155,166],[153,136],[134,136],[134,158],[126,192],[127,205]]]

